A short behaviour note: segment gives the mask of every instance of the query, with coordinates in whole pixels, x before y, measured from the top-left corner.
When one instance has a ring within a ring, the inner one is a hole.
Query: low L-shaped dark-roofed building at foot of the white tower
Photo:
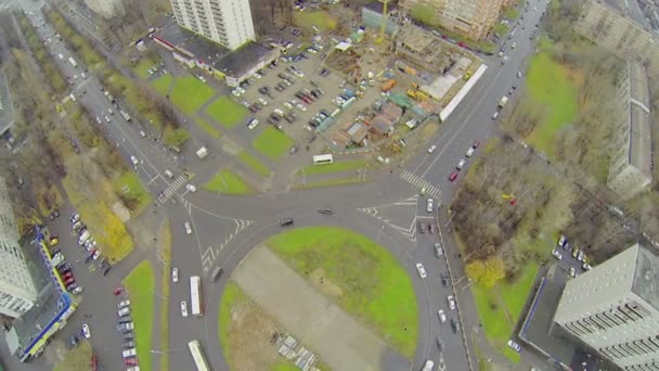
[[[230,87],[236,87],[281,55],[280,48],[267,48],[248,42],[230,51],[204,37],[180,28],[170,22],[151,35],[154,42],[171,51],[175,60],[188,67],[202,71],[224,79]]]

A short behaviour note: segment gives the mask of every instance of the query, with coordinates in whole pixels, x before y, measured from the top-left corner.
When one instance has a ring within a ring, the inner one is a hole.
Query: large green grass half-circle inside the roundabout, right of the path
[[[412,280],[397,258],[366,236],[337,227],[307,227],[280,233],[267,245],[300,276],[316,269],[341,290],[334,296],[347,312],[412,357],[418,310]]]

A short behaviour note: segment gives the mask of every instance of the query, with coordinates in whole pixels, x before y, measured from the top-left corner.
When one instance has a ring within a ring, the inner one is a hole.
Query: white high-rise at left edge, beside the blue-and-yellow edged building
[[[14,318],[31,308],[37,299],[20,238],[7,183],[0,177],[0,314]]]

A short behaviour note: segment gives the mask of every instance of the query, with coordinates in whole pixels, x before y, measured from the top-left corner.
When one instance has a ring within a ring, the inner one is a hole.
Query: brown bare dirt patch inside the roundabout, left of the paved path
[[[233,322],[229,331],[232,371],[270,370],[284,360],[271,343],[281,332],[279,324],[261,310],[256,303],[245,299],[231,308]]]

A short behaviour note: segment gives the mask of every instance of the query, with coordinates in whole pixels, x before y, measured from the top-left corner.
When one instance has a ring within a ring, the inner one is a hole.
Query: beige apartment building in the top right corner
[[[637,61],[659,74],[659,38],[652,34],[636,0],[589,0],[574,31],[617,56]]]

